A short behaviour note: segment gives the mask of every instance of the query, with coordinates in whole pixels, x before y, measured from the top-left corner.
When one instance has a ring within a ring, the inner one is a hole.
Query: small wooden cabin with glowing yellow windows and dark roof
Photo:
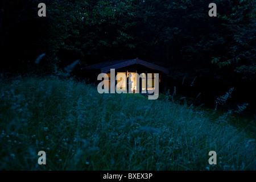
[[[151,81],[152,85],[151,88],[154,89],[154,83],[155,83],[155,73],[159,74],[159,91],[163,91],[164,89],[164,80],[166,80],[167,75],[169,74],[169,69],[160,67],[159,65],[148,63],[147,61],[140,60],[138,58],[136,59],[129,59],[129,60],[117,60],[117,61],[106,61],[103,63],[98,63],[94,65],[90,65],[85,68],[81,68],[81,74],[89,78],[91,82],[100,82],[97,80],[97,76],[100,73],[106,73],[109,77],[109,88],[110,88],[110,69],[115,69],[115,76],[118,73],[124,73],[127,76],[127,79],[129,77],[129,74],[131,77],[132,82],[132,89],[137,89],[137,78],[135,77],[138,73],[138,75],[141,75],[141,73],[145,73],[146,77],[148,77],[148,73],[152,73],[151,75]],[[116,81],[116,83],[118,83]],[[128,83],[128,80],[127,80]],[[142,84],[142,82],[140,82]],[[146,82],[147,88],[150,88],[148,86],[148,82]],[[139,86],[140,89],[143,89],[143,86]],[[142,90],[140,90],[141,92]]]

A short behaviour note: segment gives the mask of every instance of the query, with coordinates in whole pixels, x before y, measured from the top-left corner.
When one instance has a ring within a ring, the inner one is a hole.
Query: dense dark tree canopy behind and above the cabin
[[[250,98],[236,103],[255,99],[255,1],[45,0],[47,16],[39,17],[40,2],[1,1],[2,72],[51,74],[77,59],[81,68],[139,57],[170,69],[170,89],[185,80],[183,94],[196,77],[193,96],[214,100],[237,87]],[[208,15],[211,2],[217,17]]]

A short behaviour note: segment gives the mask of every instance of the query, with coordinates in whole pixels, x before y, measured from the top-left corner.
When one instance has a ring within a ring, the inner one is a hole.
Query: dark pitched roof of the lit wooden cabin
[[[101,73],[107,73],[110,71],[110,69],[118,69],[127,67],[133,64],[139,64],[143,65],[144,67],[155,69],[158,71],[161,71],[163,73],[166,73],[166,75],[169,74],[169,69],[161,67],[156,64],[148,63],[146,61],[140,60],[140,59],[127,59],[127,60],[117,60],[117,61],[106,61],[94,65],[90,65],[88,67],[82,68],[82,69],[99,69]]]

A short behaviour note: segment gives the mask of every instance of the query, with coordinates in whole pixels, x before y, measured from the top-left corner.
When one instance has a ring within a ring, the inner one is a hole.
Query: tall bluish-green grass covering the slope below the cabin
[[[225,117],[57,77],[2,77],[0,85],[1,170],[255,169],[253,135]]]

